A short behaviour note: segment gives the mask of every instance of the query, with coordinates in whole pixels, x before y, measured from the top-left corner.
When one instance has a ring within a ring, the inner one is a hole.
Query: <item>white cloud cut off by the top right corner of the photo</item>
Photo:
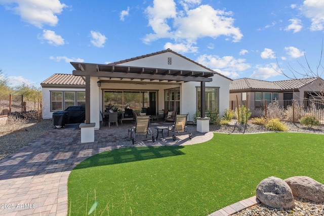
[[[300,7],[302,14],[312,22],[310,30],[324,29],[324,3],[323,0],[305,0]]]

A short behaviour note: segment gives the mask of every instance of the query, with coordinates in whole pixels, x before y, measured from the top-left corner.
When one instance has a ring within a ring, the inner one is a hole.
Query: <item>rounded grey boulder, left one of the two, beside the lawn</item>
[[[277,177],[262,180],[257,186],[257,198],[261,203],[273,207],[293,209],[295,200],[289,185]]]

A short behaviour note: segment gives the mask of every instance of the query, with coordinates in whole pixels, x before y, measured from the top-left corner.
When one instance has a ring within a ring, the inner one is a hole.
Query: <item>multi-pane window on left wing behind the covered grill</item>
[[[62,111],[69,106],[86,106],[85,92],[51,92],[51,112]]]

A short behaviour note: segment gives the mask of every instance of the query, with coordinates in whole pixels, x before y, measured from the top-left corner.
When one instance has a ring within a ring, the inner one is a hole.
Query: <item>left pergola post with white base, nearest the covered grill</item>
[[[95,142],[96,123],[90,123],[90,76],[86,76],[86,122],[80,123],[81,143]]]

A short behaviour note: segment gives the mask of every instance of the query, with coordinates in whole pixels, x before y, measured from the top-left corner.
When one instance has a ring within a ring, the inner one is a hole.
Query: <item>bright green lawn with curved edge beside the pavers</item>
[[[132,147],[88,158],[68,179],[71,215],[207,215],[255,195],[261,180],[324,183],[323,135],[214,134],[191,146]]]

